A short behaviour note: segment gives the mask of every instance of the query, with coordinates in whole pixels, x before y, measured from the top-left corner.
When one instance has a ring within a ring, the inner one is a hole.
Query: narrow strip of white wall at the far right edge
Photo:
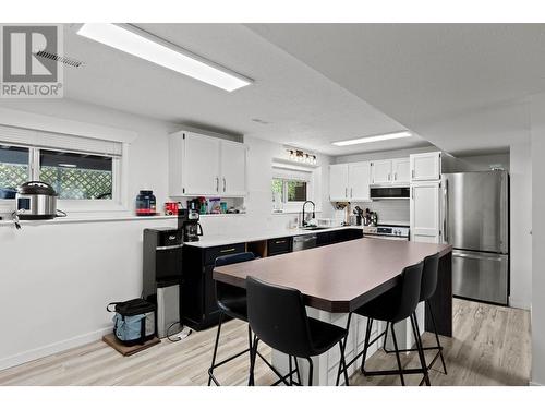
[[[545,94],[533,97],[532,137],[532,383],[545,385]]]

